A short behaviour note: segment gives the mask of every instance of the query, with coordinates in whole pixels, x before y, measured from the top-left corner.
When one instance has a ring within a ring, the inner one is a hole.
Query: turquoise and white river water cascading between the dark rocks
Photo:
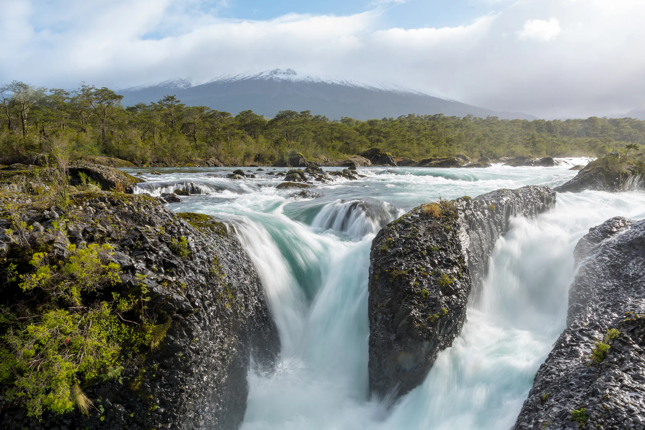
[[[323,185],[316,190],[321,197],[304,200],[275,190],[279,179],[269,176],[242,184],[204,172],[155,178],[199,176],[205,184],[229,183],[224,191],[212,188],[170,208],[210,213],[235,226],[279,327],[277,366],[248,375],[242,428],[508,429],[564,327],[577,240],[615,215],[645,217],[645,193],[560,193],[555,210],[535,220],[513,220],[495,246],[461,335],[440,353],[421,386],[390,404],[368,395],[367,279],[375,232],[440,195],[474,197],[526,184],[553,187],[576,172],[493,166],[361,173],[368,178]],[[148,187],[139,192],[161,192]]]

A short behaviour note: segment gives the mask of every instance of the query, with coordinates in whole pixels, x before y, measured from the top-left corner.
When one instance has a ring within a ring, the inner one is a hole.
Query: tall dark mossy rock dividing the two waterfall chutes
[[[379,231],[370,253],[370,389],[402,395],[417,386],[466,320],[497,239],[513,216],[555,204],[547,187],[497,190],[421,205]]]

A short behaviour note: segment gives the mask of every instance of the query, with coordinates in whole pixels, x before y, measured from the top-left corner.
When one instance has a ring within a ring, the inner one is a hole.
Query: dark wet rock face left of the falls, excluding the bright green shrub
[[[279,339],[253,263],[235,235],[212,217],[177,214],[146,195],[95,191],[72,198],[83,203],[70,214],[66,236],[42,237],[61,215],[51,210],[30,215],[33,239],[54,241],[61,259],[61,241],[113,244],[122,269],[119,288],[132,288],[135,275],[146,275],[148,306],[172,324],[159,349],[124,362],[121,382],[83,387],[97,408],[89,416],[45,413],[39,422],[0,399],[2,428],[236,429],[246,409],[250,357],[257,366],[272,366]]]

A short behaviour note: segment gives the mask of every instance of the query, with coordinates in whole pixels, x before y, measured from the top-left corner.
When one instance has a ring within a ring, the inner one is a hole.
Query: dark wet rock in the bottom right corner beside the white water
[[[515,429],[645,428],[645,221],[592,228],[575,250],[567,327]],[[583,410],[584,409],[584,410]]]

